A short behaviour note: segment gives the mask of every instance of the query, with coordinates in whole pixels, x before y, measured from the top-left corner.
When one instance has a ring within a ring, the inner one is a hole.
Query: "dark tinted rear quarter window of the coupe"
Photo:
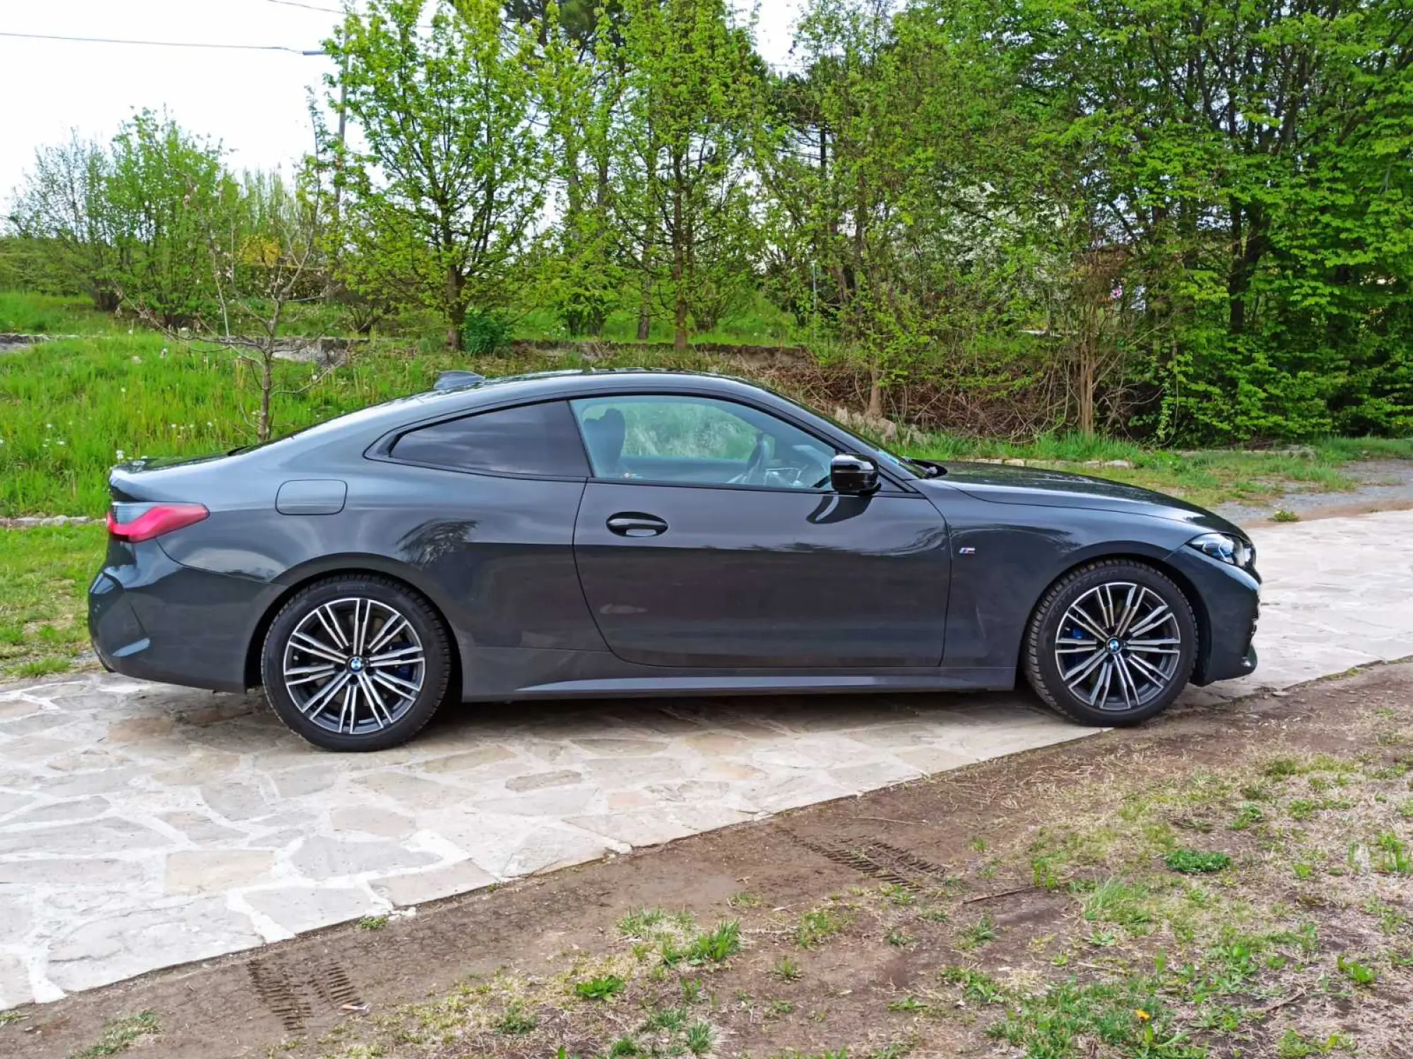
[[[579,431],[564,401],[497,408],[408,431],[391,456],[492,474],[589,476]]]

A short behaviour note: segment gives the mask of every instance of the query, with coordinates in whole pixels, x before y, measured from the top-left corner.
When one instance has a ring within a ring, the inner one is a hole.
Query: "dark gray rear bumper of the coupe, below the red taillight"
[[[113,542],[89,585],[89,637],[105,668],[188,688],[246,689],[264,582],[196,570],[155,541]]]

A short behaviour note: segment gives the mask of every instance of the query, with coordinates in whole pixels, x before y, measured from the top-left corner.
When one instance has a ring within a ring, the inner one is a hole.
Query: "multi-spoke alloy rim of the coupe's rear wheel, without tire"
[[[283,678],[300,713],[336,734],[397,723],[417,702],[427,654],[396,607],[363,596],[311,610],[284,645]]]

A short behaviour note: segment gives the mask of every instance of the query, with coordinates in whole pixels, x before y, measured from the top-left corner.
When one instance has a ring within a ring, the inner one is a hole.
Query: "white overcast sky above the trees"
[[[762,0],[757,41],[783,64],[801,0]],[[329,10],[311,10],[329,8]],[[71,128],[107,140],[134,110],[162,107],[220,140],[236,168],[288,164],[311,145],[308,90],[329,69],[318,49],[338,0],[0,0],[0,31],[65,37],[280,45],[220,51],[0,37],[0,205],[34,158]]]

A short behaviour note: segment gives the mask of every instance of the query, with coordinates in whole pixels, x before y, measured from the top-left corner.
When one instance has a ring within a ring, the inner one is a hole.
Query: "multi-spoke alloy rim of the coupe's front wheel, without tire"
[[[1135,710],[1173,683],[1183,654],[1177,614],[1153,589],[1108,582],[1068,606],[1056,635],[1060,679],[1098,710]]]

